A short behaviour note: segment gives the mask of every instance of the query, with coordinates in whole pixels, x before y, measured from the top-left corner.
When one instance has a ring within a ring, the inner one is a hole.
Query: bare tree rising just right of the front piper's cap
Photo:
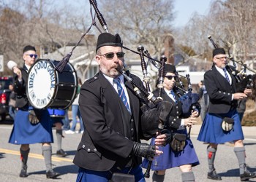
[[[126,44],[151,44],[151,54],[160,57],[164,38],[172,31],[173,0],[101,0],[99,9],[110,32],[120,33]]]

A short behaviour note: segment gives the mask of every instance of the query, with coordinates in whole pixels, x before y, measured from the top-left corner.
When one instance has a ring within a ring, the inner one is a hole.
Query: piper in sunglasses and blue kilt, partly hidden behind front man
[[[154,182],[164,181],[165,171],[173,167],[179,167],[181,170],[182,181],[195,181],[194,173],[192,172],[192,166],[199,165],[197,154],[192,141],[187,137],[186,126],[192,126],[196,123],[195,117],[199,116],[198,110],[193,111],[191,116],[184,118],[182,112],[181,101],[178,100],[178,95],[173,92],[173,87],[176,84],[176,67],[170,64],[165,65],[165,79],[164,90],[162,90],[162,99],[173,103],[173,109],[170,113],[169,121],[178,121],[181,126],[178,130],[174,127],[167,126],[171,132],[173,132],[173,138],[176,136],[183,140],[181,145],[184,145],[184,149],[173,149],[172,142],[166,146],[159,146],[159,150],[163,151],[163,154],[156,157],[151,165],[151,170],[154,170],[152,179]],[[154,91],[155,94],[159,93],[159,90]],[[178,135],[183,134],[183,135]],[[175,136],[176,135],[176,136]],[[154,138],[151,141],[151,145],[154,144]],[[181,147],[181,148],[182,148]],[[143,167],[148,166],[148,160],[144,159]]]

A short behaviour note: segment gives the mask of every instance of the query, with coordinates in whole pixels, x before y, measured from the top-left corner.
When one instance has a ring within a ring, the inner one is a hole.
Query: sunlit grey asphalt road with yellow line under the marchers
[[[56,156],[56,143],[53,143],[53,165],[57,172],[61,173],[57,179],[47,179],[45,176],[45,162],[42,157],[42,150],[40,144],[31,145],[31,151],[28,161],[27,178],[20,178],[20,146],[8,143],[10,132],[12,131],[12,124],[0,123],[0,181],[75,181],[78,167],[72,163],[78,143],[80,142],[81,134],[64,133],[62,148],[67,151],[67,157]],[[197,134],[200,130],[200,124],[196,124],[191,130],[191,139],[197,152],[197,157],[200,160],[200,165],[192,168],[195,173],[196,181],[207,182],[207,158],[206,158],[206,144],[197,141]],[[256,171],[256,127],[243,127],[246,147],[246,164],[249,169]],[[54,141],[56,141],[56,131],[53,130]],[[215,160],[215,168],[217,173],[222,176],[222,181],[240,181],[238,161],[236,154],[233,151],[233,146],[228,144],[219,145],[217,157]],[[145,172],[145,170],[144,170]],[[152,171],[151,171],[152,176]],[[146,182],[151,181],[146,178]],[[180,182],[181,172],[178,167],[167,170],[165,181]],[[251,181],[256,181],[252,179]],[[212,182],[212,181],[211,181]]]

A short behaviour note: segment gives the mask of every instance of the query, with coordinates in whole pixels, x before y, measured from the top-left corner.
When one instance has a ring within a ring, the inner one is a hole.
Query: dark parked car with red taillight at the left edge
[[[9,85],[12,84],[12,76],[0,76],[0,116],[1,121],[6,119],[9,114],[9,98],[11,90]]]

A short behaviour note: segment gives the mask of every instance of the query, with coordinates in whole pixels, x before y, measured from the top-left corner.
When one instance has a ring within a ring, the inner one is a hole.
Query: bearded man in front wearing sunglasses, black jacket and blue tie
[[[100,71],[80,88],[79,110],[86,130],[73,161],[79,167],[77,181],[107,182],[112,176],[145,181],[141,157],[153,159],[162,151],[140,143],[143,116],[132,84],[119,73],[124,66],[120,36],[99,34],[96,53]],[[132,78],[143,87],[137,76]],[[156,143],[164,142],[165,135],[159,135]]]

